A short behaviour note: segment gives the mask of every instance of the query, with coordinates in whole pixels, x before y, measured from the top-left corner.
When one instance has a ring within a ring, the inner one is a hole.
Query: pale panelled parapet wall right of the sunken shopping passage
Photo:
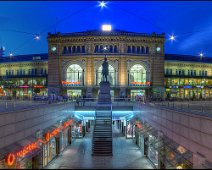
[[[212,162],[212,118],[154,105],[136,104],[134,111],[165,136],[193,152],[194,168]]]

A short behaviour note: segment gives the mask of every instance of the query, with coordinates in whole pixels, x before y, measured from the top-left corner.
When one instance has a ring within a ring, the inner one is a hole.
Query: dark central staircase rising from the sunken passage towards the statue
[[[101,94],[100,84],[100,94]],[[111,97],[108,91],[104,89],[103,93],[107,95],[99,95],[107,97],[102,99],[99,97],[96,107],[96,119],[93,131],[93,156],[112,156],[113,155],[113,139],[112,139],[112,109]],[[110,91],[109,91],[110,92]]]

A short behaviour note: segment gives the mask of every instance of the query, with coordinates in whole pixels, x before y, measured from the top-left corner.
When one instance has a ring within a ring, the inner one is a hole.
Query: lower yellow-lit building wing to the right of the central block
[[[165,54],[164,71],[167,98],[212,98],[212,58]]]

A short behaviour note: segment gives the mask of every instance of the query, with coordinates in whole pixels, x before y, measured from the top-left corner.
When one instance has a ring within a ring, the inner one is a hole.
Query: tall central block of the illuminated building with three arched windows
[[[164,96],[164,34],[48,34],[49,94],[97,97],[105,55],[112,97]]]

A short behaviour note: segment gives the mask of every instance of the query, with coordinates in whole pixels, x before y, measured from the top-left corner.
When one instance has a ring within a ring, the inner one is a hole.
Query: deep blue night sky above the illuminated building
[[[212,2],[189,1],[0,2],[0,46],[5,55],[47,53],[47,33],[113,29],[165,33],[165,53],[212,57]],[[34,35],[41,35],[40,40]],[[176,35],[170,41],[169,35]]]

